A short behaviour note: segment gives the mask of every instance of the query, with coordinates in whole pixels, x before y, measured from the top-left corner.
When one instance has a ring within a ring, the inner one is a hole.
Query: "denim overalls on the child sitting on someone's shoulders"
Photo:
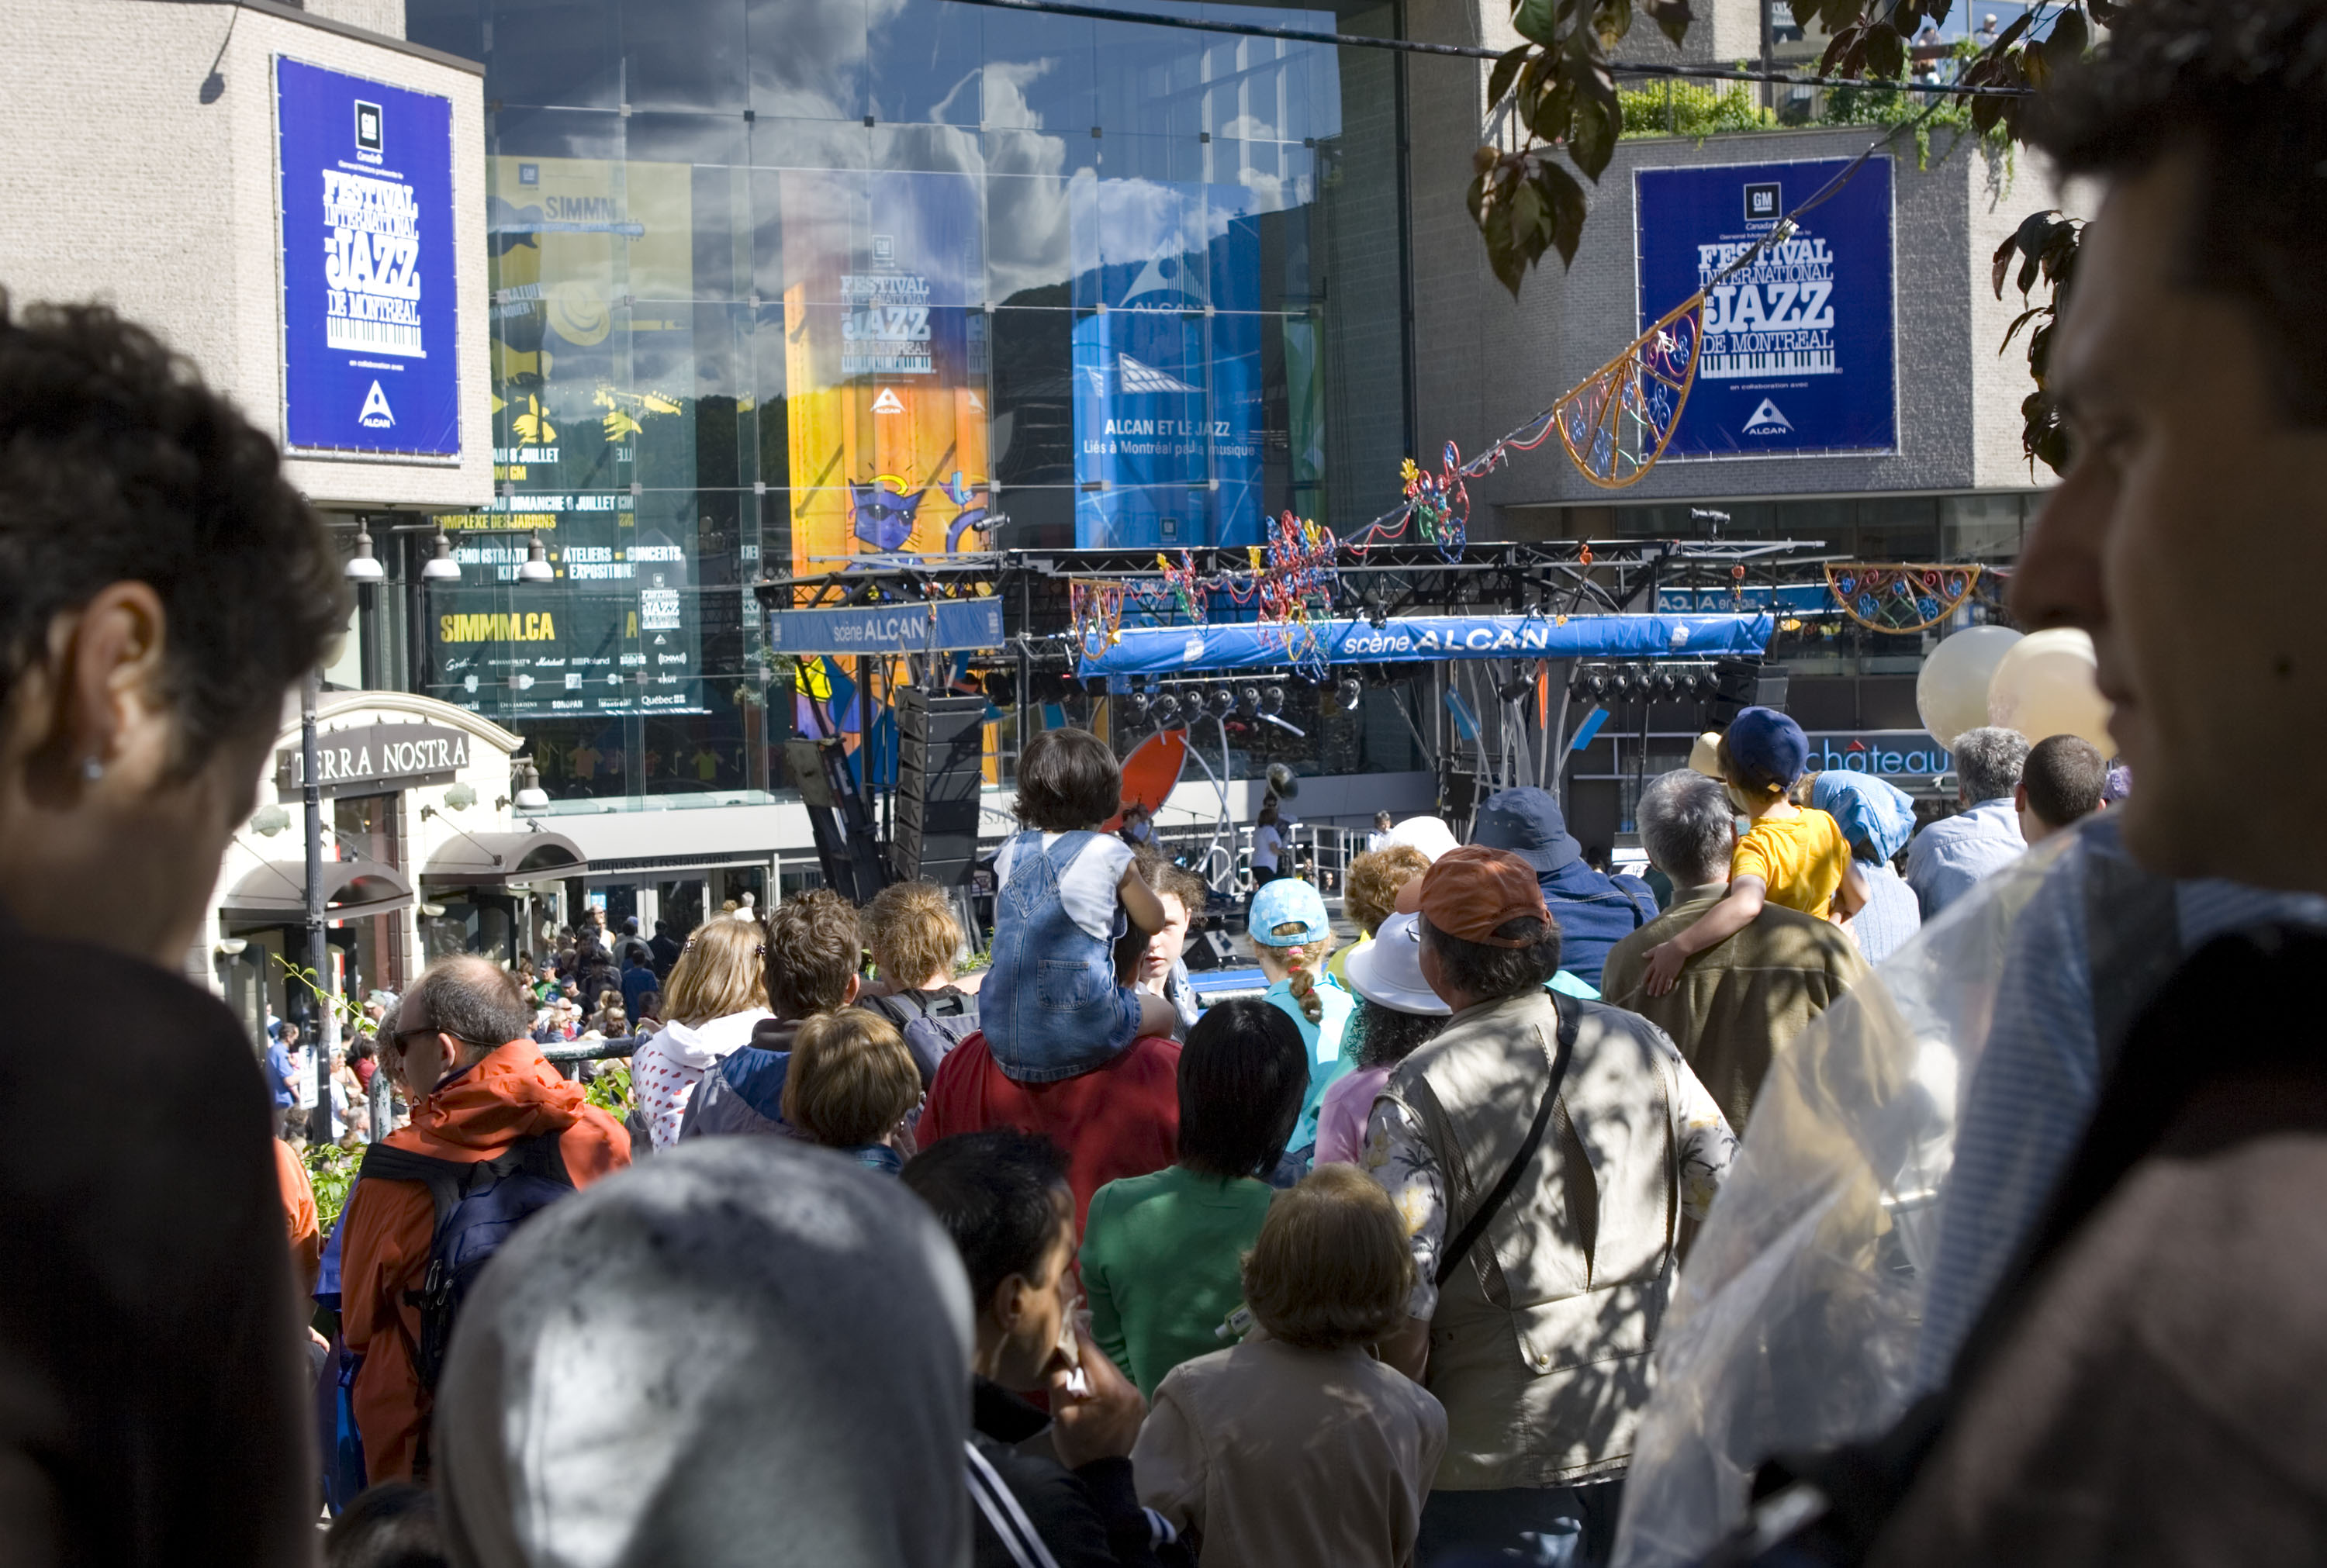
[[[1054,1084],[1105,1065],[1138,1035],[1138,993],[1115,984],[1115,945],[1075,924],[1059,877],[1096,833],[1019,833],[994,912],[994,970],[977,1019],[1003,1077]],[[1119,912],[1117,912],[1119,919]]]

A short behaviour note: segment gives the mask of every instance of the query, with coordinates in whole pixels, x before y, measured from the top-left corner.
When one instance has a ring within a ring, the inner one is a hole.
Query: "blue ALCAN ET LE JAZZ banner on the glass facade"
[[[1075,542],[1261,542],[1259,221],[1243,186],[1077,177]]]

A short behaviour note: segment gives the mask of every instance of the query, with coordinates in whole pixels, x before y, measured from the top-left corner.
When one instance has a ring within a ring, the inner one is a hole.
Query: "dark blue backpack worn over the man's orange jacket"
[[[421,1342],[412,1366],[421,1387],[435,1391],[451,1345],[454,1314],[477,1282],[477,1270],[535,1210],[575,1191],[558,1133],[540,1133],[510,1145],[493,1159],[454,1161],[375,1142],[363,1156],[363,1175],[386,1182],[419,1182],[435,1200],[435,1233],[421,1289],[405,1291],[405,1305],[421,1312]]]

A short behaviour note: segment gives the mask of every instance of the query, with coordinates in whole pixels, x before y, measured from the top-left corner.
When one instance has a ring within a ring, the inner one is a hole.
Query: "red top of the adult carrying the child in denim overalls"
[[[1080,1242],[1091,1193],[1117,1177],[1164,1170],[1180,1156],[1180,1042],[1147,1035],[1103,1068],[1019,1084],[994,1065],[987,1038],[970,1035],[938,1063],[915,1138],[933,1145],[996,1126],[1042,1133],[1066,1149]]]

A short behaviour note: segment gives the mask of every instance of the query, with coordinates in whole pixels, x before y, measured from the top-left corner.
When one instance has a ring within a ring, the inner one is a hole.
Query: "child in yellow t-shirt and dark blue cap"
[[[1748,707],[1722,735],[1722,782],[1752,828],[1729,856],[1729,893],[1678,938],[1650,949],[1643,977],[1650,996],[1671,991],[1689,958],[1745,931],[1764,903],[1817,919],[1848,919],[1866,905],[1866,879],[1850,861],[1841,824],[1785,798],[1808,761],[1801,726],[1771,707]]]

